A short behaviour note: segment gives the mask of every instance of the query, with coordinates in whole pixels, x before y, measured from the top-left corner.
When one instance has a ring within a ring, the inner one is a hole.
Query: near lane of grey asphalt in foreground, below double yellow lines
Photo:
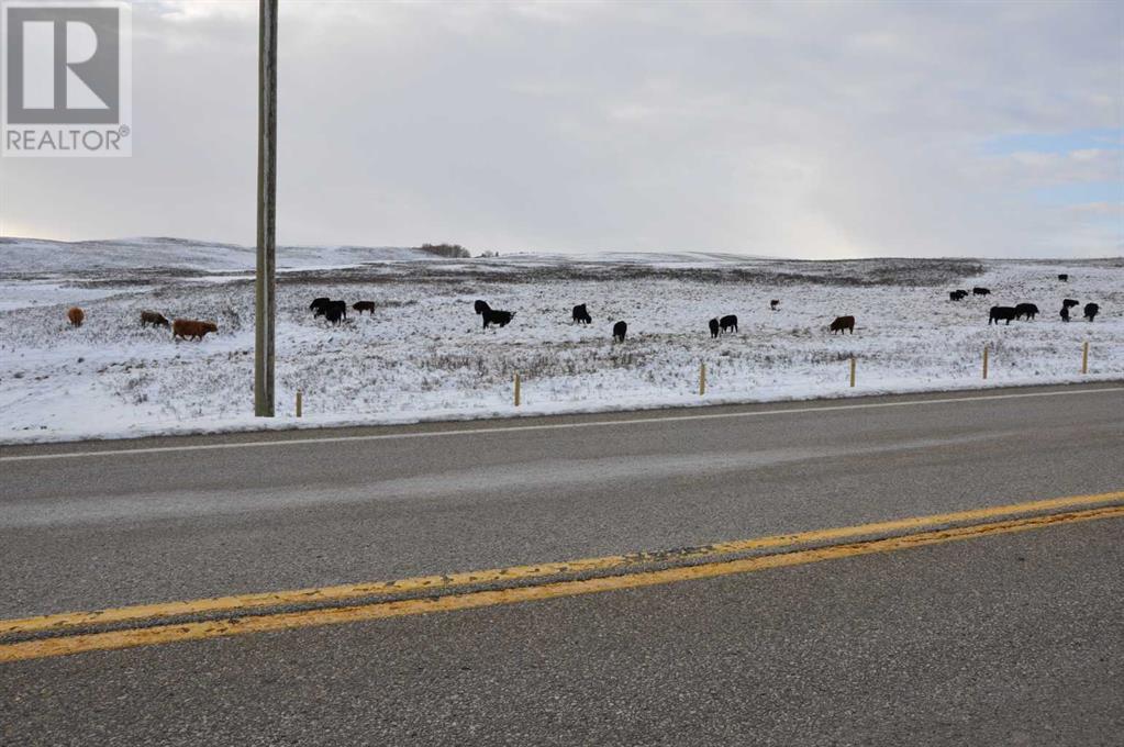
[[[0,741],[1116,746],[1122,539],[1093,522],[0,665]]]

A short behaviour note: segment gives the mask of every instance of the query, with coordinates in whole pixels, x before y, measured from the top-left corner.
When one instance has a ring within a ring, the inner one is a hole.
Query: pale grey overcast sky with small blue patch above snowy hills
[[[1124,3],[281,0],[283,244],[1124,252]],[[136,2],[132,158],[0,234],[253,244],[257,2]]]

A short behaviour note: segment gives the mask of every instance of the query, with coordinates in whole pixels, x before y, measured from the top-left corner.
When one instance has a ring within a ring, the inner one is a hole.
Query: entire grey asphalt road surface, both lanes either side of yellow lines
[[[4,448],[0,618],[1108,492],[1122,464],[1113,385]],[[1118,745],[1122,539],[0,664],[0,744]]]

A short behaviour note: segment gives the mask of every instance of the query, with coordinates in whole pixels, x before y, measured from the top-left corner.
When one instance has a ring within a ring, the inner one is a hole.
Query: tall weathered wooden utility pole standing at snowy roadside
[[[257,40],[257,281],[254,293],[254,415],[273,417],[277,270],[278,0],[261,0]]]

